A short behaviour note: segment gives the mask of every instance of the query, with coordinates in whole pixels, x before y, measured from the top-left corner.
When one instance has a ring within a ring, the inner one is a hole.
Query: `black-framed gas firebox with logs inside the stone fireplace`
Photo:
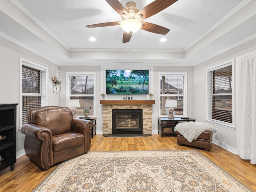
[[[112,134],[142,134],[142,109],[113,109]]]

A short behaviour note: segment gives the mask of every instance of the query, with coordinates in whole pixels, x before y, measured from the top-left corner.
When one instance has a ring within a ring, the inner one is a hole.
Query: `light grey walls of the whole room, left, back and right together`
[[[158,117],[158,73],[159,72],[187,72],[188,74],[188,116],[196,121],[205,122],[206,119],[206,90],[205,69],[209,66],[235,58],[242,54],[256,50],[256,39],[250,40],[232,50],[224,52],[212,59],[196,66],[153,66],[154,76],[154,100],[152,128],[156,132]],[[31,60],[48,67],[48,105],[66,106],[66,72],[96,72],[96,117],[97,130],[102,130],[102,106],[99,104],[101,92],[101,66],[57,66],[56,64],[0,37],[0,103],[18,103],[17,106],[17,152],[24,149],[24,135],[18,128],[20,117],[20,57]],[[58,68],[61,72],[58,73]],[[62,97],[52,92],[50,78],[53,76],[62,79]],[[236,90],[239,91],[239,90]],[[238,121],[239,118],[235,118]],[[236,124],[236,123],[235,123]],[[236,151],[236,130],[217,127],[218,133],[214,134],[214,140],[230,151]]]

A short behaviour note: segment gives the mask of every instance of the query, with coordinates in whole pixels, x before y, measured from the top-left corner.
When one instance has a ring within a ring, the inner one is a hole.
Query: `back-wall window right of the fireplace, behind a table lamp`
[[[177,100],[174,116],[186,115],[186,73],[159,74],[160,116],[168,116],[167,99]]]

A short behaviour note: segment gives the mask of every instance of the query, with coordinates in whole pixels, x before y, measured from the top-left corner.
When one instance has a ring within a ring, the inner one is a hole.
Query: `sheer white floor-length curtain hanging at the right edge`
[[[256,164],[256,51],[236,60],[237,154]]]

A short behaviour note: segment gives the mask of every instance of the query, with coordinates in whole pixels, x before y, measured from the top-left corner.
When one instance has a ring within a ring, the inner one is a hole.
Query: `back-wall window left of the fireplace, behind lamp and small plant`
[[[94,116],[94,78],[95,73],[67,73],[68,100],[79,99],[80,103],[80,108],[77,108],[76,112],[77,116],[83,114],[83,109],[89,109],[89,116]]]

